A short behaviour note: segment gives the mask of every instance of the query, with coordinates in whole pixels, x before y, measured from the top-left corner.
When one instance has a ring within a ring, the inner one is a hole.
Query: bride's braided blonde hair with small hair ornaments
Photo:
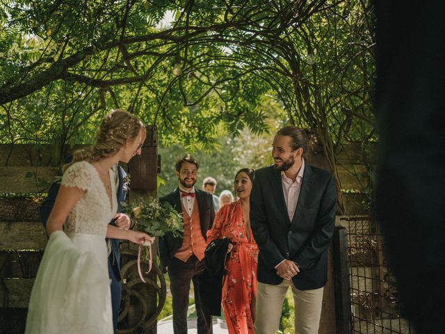
[[[132,113],[122,109],[111,111],[102,120],[95,145],[76,150],[72,162],[63,166],[63,172],[77,161],[92,162],[113,156],[127,140],[135,140],[142,127],[143,123]]]

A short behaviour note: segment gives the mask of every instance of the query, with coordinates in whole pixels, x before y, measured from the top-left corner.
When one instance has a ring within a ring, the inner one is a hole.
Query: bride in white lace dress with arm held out
[[[97,143],[74,153],[47,221],[49,241],[31,292],[26,334],[113,334],[105,237],[140,244],[154,238],[108,225],[118,209],[110,168],[138,149],[143,124],[110,113]]]

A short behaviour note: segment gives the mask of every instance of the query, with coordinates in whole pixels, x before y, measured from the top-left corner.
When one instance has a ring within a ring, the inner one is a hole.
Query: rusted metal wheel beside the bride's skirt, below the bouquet
[[[120,270],[123,284],[118,333],[138,333],[140,329],[149,328],[154,324],[161,313],[167,286],[163,273],[156,263],[152,264],[149,273],[145,273],[149,268],[149,262],[140,260],[140,269],[146,282],[144,283],[138,274],[136,251],[123,250],[121,255],[127,257],[129,261]],[[156,308],[153,306],[154,303]]]

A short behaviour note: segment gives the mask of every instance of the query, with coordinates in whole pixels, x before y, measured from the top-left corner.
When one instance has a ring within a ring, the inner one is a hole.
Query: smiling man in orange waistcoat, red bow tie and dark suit
[[[195,188],[197,180],[197,161],[186,154],[176,163],[179,184],[175,191],[159,199],[169,202],[181,213],[184,221],[182,237],[171,233],[159,238],[159,253],[162,265],[170,277],[170,291],[173,299],[173,331],[175,334],[187,333],[187,310],[190,282],[195,289],[197,314],[197,333],[212,333],[211,317],[202,310],[199,297],[199,276],[204,273],[204,250],[206,234],[213,224],[215,210],[210,193]]]

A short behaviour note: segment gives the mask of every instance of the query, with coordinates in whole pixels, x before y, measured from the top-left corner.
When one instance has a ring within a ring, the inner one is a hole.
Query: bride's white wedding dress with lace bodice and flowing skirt
[[[112,334],[105,235],[118,208],[97,170],[79,161],[63,174],[63,186],[86,190],[64,225],[51,233],[29,301],[26,334]]]

